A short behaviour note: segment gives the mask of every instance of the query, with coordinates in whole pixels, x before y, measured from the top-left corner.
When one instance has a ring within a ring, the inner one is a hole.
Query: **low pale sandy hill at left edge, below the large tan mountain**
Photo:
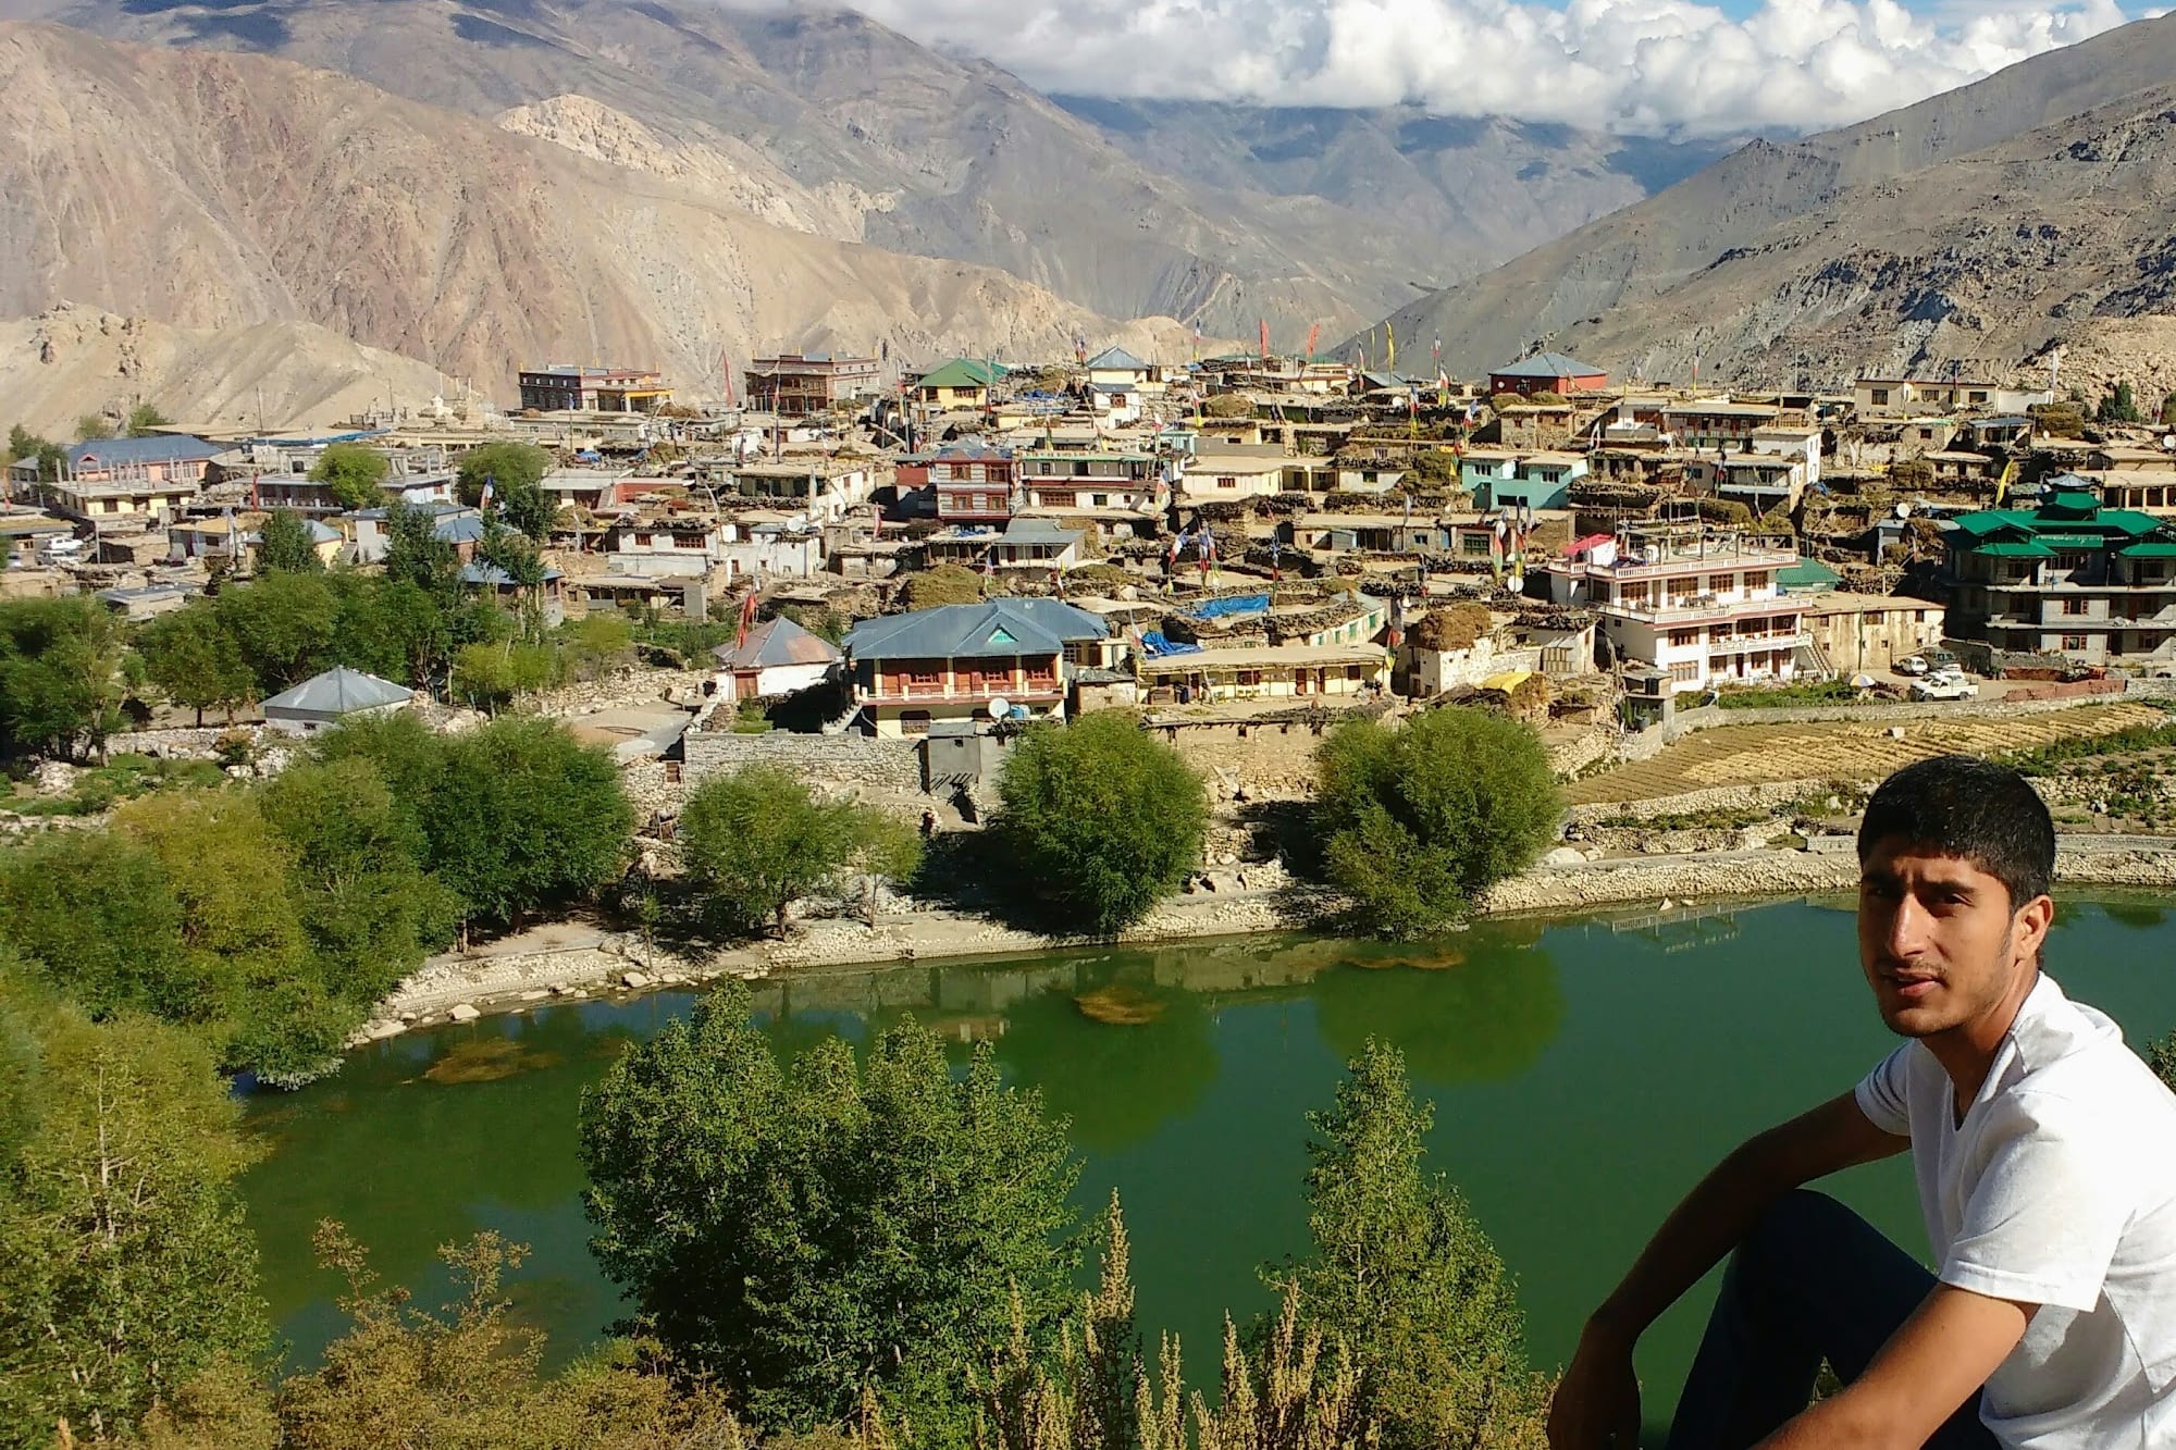
[[[76,418],[152,403],[178,422],[344,422],[387,398],[416,407],[446,383],[431,364],[307,322],[194,331],[61,303],[0,322],[7,422],[65,435]]]

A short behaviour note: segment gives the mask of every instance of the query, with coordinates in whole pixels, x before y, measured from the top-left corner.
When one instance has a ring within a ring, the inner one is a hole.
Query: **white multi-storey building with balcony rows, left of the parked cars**
[[[1647,666],[1682,692],[1817,668],[1804,603],[1780,581],[1795,564],[1736,533],[1643,527],[1575,540],[1547,577],[1554,603],[1599,616],[1608,664]]]

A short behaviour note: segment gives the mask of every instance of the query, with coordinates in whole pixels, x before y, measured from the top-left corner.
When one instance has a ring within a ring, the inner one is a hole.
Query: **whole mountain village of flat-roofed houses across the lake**
[[[1419,370],[1395,344],[1382,368],[1086,342],[1010,368],[777,355],[701,405],[651,368],[533,366],[505,409],[433,398],[292,433],[183,420],[20,457],[0,588],[157,620],[246,581],[274,518],[326,568],[370,573],[411,512],[463,590],[537,629],[616,618],[716,642],[490,701],[342,666],[228,701],[226,727],[168,708],[137,740],[211,753],[233,727],[540,710],[611,747],[659,845],[683,788],[751,762],[925,832],[970,827],[1025,725],[1129,708],[1232,816],[1203,860],[1203,888],[1225,873],[1216,921],[1249,862],[1256,893],[1279,880],[1242,806],[1306,795],[1310,751],[1349,716],[1471,703],[1532,725],[1573,782],[1571,867],[1684,845],[1610,845],[1580,812],[1728,814],[1747,782],[1773,806],[1843,775],[1850,740],[1911,758],[1941,721],[2022,721],[2017,745],[2037,745],[2143,710],[2069,705],[2176,688],[2176,455],[2115,420],[2139,416],[2128,396],[1961,370],[1847,394],[1665,388],[1558,353],[1460,383],[1419,351]],[[463,453],[507,442],[548,455],[527,579],[479,557],[505,529],[492,481],[459,486]],[[326,481],[342,451],[383,459],[361,507]],[[1628,762],[1754,723],[1813,736],[1610,788],[1654,769]],[[1747,830],[1732,816],[1723,836]],[[1578,890],[1662,895],[1597,880]]]

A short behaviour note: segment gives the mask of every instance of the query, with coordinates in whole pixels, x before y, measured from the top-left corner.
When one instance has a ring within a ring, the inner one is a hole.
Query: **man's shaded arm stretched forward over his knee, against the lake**
[[[1639,1443],[1632,1345],[1699,1276],[1734,1250],[1791,1189],[1911,1147],[1876,1128],[1852,1093],[1747,1139],[1699,1180],[1654,1232],[1632,1271],[1586,1322],[1549,1406],[1554,1450]]]

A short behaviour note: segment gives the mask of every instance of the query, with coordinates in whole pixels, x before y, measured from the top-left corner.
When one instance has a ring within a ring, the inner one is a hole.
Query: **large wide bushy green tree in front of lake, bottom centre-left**
[[[970,1439],[968,1369],[1049,1345],[1073,1300],[1077,1163],[988,1047],[955,1076],[910,1023],[781,1069],[746,988],[712,993],[583,1093],[592,1248],[640,1322],[764,1428],[873,1385],[916,1443]]]

